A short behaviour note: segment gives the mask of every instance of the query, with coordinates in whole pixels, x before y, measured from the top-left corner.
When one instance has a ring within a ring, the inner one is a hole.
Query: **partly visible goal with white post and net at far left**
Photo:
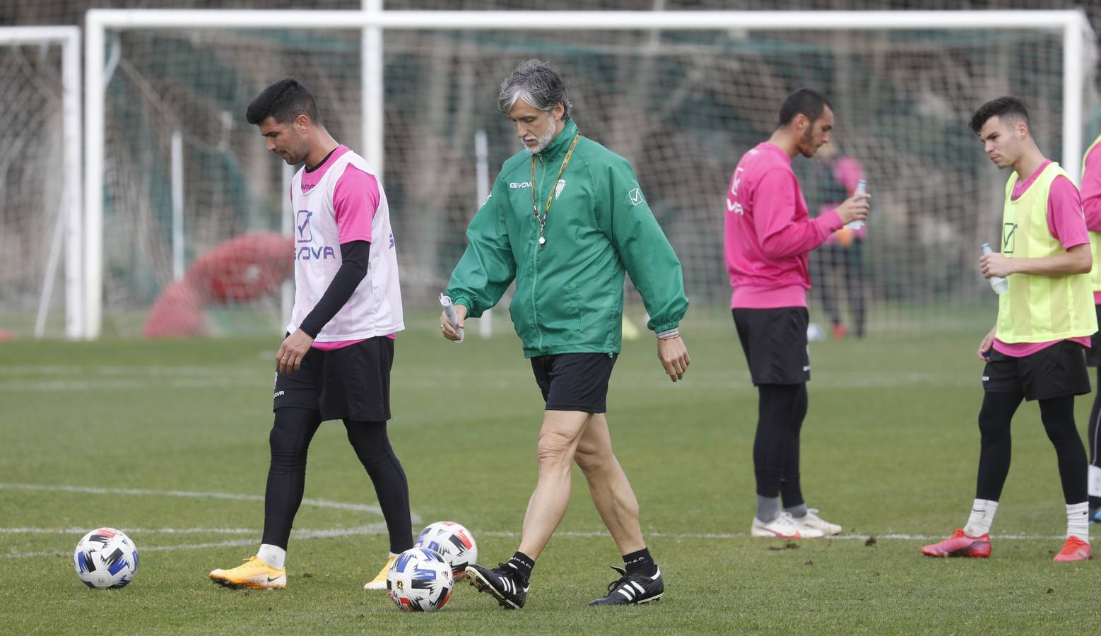
[[[12,263],[2,283],[10,304],[0,306],[9,325],[0,328],[19,332],[25,325],[35,338],[85,336],[79,61],[76,26],[0,26],[0,110],[10,118],[13,153],[0,172],[0,243]],[[55,299],[55,288],[64,292],[62,299]],[[52,314],[64,315],[63,327],[54,327]]]

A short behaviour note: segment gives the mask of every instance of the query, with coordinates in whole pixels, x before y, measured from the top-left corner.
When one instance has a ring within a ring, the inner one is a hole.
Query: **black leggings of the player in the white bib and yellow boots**
[[[410,490],[405,471],[390,446],[386,423],[349,419],[344,423],[348,441],[374,483],[390,533],[390,551],[403,552],[413,547]],[[264,494],[264,544],[286,549],[306,485],[306,451],[320,424],[320,414],[313,409],[283,407],[275,412],[270,436],[272,463]]]

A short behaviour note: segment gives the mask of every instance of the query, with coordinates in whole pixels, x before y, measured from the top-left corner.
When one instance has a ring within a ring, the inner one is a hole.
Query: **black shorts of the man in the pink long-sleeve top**
[[[753,386],[810,380],[806,307],[731,309]]]

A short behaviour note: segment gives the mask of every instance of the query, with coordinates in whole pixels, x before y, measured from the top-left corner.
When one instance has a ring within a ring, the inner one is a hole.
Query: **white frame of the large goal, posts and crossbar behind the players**
[[[102,319],[103,44],[107,31],[129,29],[360,29],[364,43],[364,158],[381,169],[382,33],[385,30],[637,31],[870,31],[1028,30],[1062,37],[1062,167],[1078,178],[1082,152],[1082,99],[1095,36],[1083,12],[1053,11],[383,11],[363,0],[362,11],[247,11],[92,9],[85,21],[85,293],[84,337],[98,338]]]

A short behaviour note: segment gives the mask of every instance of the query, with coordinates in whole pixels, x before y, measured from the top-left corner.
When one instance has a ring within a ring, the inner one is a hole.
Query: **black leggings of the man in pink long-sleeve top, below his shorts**
[[[753,439],[757,494],[781,496],[784,507],[800,505],[799,431],[807,416],[807,385],[761,384],[757,394],[757,430]]]

